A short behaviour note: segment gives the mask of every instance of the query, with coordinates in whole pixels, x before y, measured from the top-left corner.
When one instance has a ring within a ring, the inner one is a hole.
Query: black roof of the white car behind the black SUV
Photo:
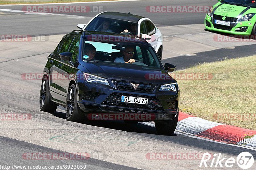
[[[119,19],[124,21],[130,21],[138,23],[141,18],[145,18],[139,15],[133,15],[129,13],[122,13],[122,12],[103,12],[98,17],[110,18],[110,19]]]

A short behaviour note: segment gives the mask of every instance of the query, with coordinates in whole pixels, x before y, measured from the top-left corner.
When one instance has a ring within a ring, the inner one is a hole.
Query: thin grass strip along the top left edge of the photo
[[[114,1],[114,0],[49,0],[49,1],[10,1],[10,0],[1,0],[0,4],[45,4],[45,3],[71,3],[71,2],[95,2],[95,1]]]

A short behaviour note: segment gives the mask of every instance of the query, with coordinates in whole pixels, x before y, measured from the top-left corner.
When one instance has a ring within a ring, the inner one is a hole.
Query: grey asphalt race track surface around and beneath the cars
[[[193,2],[144,0],[73,5],[103,6],[108,11],[131,12],[151,18],[162,33],[170,37],[169,41],[164,42],[166,51],[163,63],[173,63],[178,69],[182,69],[196,63],[218,61],[223,57],[253,55],[255,44],[230,42],[224,45],[215,41],[208,42],[216,33],[204,30],[205,13],[156,14],[148,13],[145,10],[146,6],[211,6],[216,2],[215,0],[193,0]],[[0,42],[0,113],[27,114],[29,117],[28,120],[20,121],[0,120],[0,169],[1,165],[11,167],[13,165],[86,165],[86,169],[170,169],[171,167],[199,169],[201,159],[152,160],[147,157],[149,153],[165,152],[222,153],[224,158],[236,158],[241,152],[250,152],[256,158],[256,151],[253,149],[213,142],[178,131],[172,136],[157,135],[155,128],[147,123],[137,125],[125,124],[122,121],[75,123],[65,119],[63,107],[58,107],[54,114],[40,111],[41,81],[26,80],[21,74],[41,73],[47,56],[55,49],[63,34],[76,29],[79,23],[87,23],[97,12],[61,13],[61,15],[24,14],[20,12],[22,6],[0,5],[0,34],[42,35],[47,41]],[[176,31],[175,28],[180,29]],[[200,44],[200,49],[195,50],[191,41]],[[188,51],[184,53],[180,45],[182,42],[188,43]],[[29,159],[24,156],[27,153],[39,152],[58,154],[76,152],[86,153],[89,156],[86,157],[87,159],[65,160]],[[255,167],[254,163],[252,169]],[[234,165],[227,169],[238,168]]]

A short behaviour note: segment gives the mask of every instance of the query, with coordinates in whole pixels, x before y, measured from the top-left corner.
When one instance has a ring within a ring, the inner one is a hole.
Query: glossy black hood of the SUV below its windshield
[[[123,80],[150,84],[169,84],[176,82],[162,69],[148,69],[135,64],[113,62],[83,62],[83,72],[111,80]]]

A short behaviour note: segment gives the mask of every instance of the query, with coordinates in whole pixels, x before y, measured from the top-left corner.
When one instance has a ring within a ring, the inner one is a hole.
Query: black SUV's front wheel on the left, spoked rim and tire
[[[77,104],[76,86],[72,84],[68,89],[66,99],[66,118],[72,122],[82,122],[85,118],[85,113]]]

